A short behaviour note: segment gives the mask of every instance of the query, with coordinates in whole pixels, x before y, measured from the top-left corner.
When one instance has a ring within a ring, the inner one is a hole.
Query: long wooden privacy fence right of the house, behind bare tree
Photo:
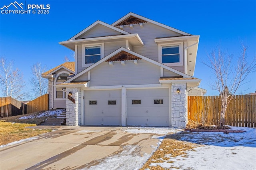
[[[188,96],[189,120],[218,125],[220,111],[220,96]],[[225,125],[256,127],[256,95],[234,96],[226,110]]]

